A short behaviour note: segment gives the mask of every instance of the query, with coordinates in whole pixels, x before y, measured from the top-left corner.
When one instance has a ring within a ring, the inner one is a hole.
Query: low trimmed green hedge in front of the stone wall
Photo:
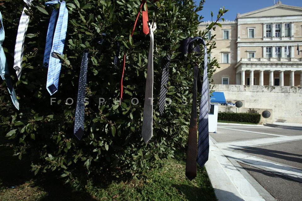
[[[218,120],[222,121],[259,123],[260,117],[256,113],[218,112]]]

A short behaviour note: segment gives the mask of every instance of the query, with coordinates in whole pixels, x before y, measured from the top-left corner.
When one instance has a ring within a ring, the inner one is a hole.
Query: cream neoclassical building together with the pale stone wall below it
[[[278,1],[220,23],[208,35],[215,35],[217,47],[209,56],[220,66],[212,76],[214,90],[242,106],[219,111],[258,112],[263,124],[302,123],[302,7]]]

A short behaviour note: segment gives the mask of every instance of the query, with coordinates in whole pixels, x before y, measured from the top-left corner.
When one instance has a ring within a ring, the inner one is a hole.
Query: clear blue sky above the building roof
[[[278,0],[275,0],[275,3],[277,3],[277,1]],[[196,2],[199,3],[200,0],[196,0]],[[302,0],[281,0],[281,2],[285,5],[302,7]],[[198,14],[204,17],[203,21],[208,21],[211,20],[211,11],[213,11],[213,20],[215,20],[219,8],[224,6],[229,10],[224,15],[224,19],[234,21],[237,13],[243,14],[272,5],[274,5],[274,0],[206,0],[203,10],[198,12]]]

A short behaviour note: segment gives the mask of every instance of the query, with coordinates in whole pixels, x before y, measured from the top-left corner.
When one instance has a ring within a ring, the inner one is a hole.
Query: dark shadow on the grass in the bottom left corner
[[[16,187],[15,195],[10,195],[14,197],[13,200],[23,200],[21,196],[18,198],[18,194],[19,189],[22,189],[26,183],[27,186],[30,186],[26,188],[28,196],[36,191],[45,192],[39,197],[39,201],[98,200],[85,191],[75,191],[69,185],[65,185],[62,179],[58,179],[51,173],[35,176],[30,171],[30,161],[25,158],[19,160],[18,157],[12,156],[11,148],[0,146],[0,153],[0,189]]]

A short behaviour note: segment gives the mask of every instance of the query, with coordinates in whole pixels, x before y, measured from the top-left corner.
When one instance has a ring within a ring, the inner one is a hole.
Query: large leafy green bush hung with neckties
[[[202,63],[203,57],[190,54],[186,61],[179,60],[177,48],[184,38],[204,37],[213,26],[220,25],[216,21],[209,29],[198,31],[200,19],[196,12],[202,9],[204,1],[197,7],[193,0],[148,1],[149,19],[157,23],[154,33],[154,136],[148,144],[141,138],[141,125],[150,37],[142,32],[141,16],[133,38],[130,38],[140,1],[66,0],[69,12],[67,37],[59,90],[52,96],[45,88],[47,68],[42,63],[53,8],[45,8],[42,0],[32,3],[35,7],[30,11],[20,81],[12,66],[24,3],[12,0],[0,8],[6,32],[3,48],[20,102],[20,110],[16,111],[3,81],[1,144],[12,146],[20,159],[22,155],[30,156],[31,170],[35,174],[55,171],[66,182],[77,186],[101,172],[118,177],[125,172],[138,175],[150,168],[161,167],[164,159],[173,157],[176,149],[185,147],[192,105],[192,65]],[[220,12],[218,18],[224,12]],[[94,44],[93,38],[100,37],[103,32],[108,35],[103,45]],[[121,44],[117,69],[113,65],[116,41]],[[207,45],[210,51],[215,42],[208,41]],[[90,51],[86,90],[89,104],[86,106],[85,133],[79,141],[73,135],[73,126],[84,48]],[[119,106],[124,50],[127,52],[124,95]],[[160,63],[166,54],[172,59],[167,92],[172,102],[160,116],[157,110]],[[217,66],[215,59],[209,64],[209,76],[213,74],[214,66]]]

